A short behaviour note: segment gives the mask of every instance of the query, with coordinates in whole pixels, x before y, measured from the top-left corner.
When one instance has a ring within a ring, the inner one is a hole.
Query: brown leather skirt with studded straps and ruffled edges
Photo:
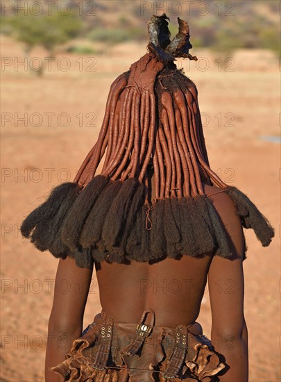
[[[155,326],[155,313],[144,310],[138,324],[116,322],[101,313],[65,360],[51,371],[60,381],[148,382],[218,381],[225,368],[221,354],[197,322],[174,328]]]

